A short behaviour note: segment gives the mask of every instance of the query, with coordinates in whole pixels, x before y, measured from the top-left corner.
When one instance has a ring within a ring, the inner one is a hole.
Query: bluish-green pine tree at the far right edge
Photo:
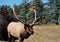
[[[50,13],[51,15],[53,16],[52,17],[52,20],[55,21],[56,24],[59,24],[58,23],[58,18],[59,18],[59,3],[60,1],[58,0],[48,0],[48,7],[50,8]]]

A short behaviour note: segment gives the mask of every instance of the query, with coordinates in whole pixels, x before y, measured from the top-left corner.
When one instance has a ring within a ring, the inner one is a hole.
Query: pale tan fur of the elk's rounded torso
[[[24,24],[21,22],[11,22],[7,27],[8,33],[19,38],[21,34],[25,33]]]

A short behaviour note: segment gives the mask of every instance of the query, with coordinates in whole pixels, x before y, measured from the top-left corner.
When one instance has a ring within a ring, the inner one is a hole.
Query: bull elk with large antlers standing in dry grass
[[[9,39],[11,37],[10,35],[12,35],[13,37],[18,38],[20,42],[23,42],[24,38],[27,38],[34,33],[33,26],[34,26],[35,22],[37,21],[36,11],[34,9],[31,9],[31,8],[30,8],[30,10],[32,10],[35,13],[34,21],[30,24],[23,23],[22,21],[9,23],[9,25],[7,26]],[[13,13],[14,13],[15,17],[19,20],[19,18],[17,17],[17,15],[15,13],[14,7],[13,7]],[[14,42],[14,41],[15,40],[13,38],[12,42]]]

